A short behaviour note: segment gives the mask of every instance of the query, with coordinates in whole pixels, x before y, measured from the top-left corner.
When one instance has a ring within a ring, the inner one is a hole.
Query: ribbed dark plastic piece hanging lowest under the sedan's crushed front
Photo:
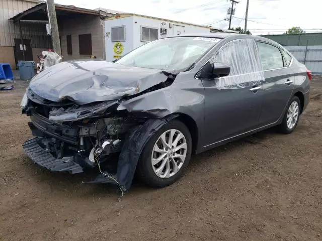
[[[63,162],[46,152],[39,144],[40,138],[32,138],[23,144],[25,153],[38,165],[53,172],[69,172],[71,174],[83,172],[83,168],[75,162]]]

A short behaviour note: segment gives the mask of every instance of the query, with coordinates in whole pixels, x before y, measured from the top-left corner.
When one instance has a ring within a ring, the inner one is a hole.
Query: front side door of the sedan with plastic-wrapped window
[[[230,74],[202,80],[205,87],[205,147],[258,127],[264,80],[253,39],[229,42],[209,62],[229,65]]]

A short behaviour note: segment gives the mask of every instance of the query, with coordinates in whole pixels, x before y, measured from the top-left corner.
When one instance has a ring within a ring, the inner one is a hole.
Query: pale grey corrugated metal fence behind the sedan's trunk
[[[322,74],[322,46],[286,46],[290,53],[313,74]]]

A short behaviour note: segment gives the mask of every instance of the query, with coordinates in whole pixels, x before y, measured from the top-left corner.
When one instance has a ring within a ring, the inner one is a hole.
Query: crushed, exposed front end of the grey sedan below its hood
[[[30,91],[30,90],[29,90]],[[115,113],[118,101],[90,105],[41,105],[28,101],[24,112],[35,138],[23,145],[26,154],[51,171],[81,173],[104,164],[121,151],[128,131],[144,119]]]

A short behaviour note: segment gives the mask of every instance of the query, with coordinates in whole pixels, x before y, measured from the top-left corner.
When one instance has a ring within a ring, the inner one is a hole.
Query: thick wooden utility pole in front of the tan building
[[[47,0],[48,20],[51,26],[51,41],[54,51],[61,56],[58,24],[54,0]]]

